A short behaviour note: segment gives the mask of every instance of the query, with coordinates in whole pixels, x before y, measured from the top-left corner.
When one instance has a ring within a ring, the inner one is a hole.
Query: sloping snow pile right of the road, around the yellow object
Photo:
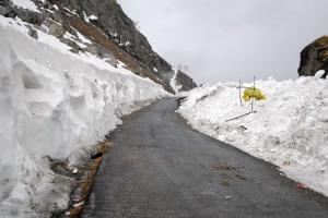
[[[257,113],[230,122],[250,111],[250,102],[241,107],[237,83],[196,88],[178,112],[192,128],[328,196],[328,81],[318,77],[257,81],[268,99],[256,101]]]

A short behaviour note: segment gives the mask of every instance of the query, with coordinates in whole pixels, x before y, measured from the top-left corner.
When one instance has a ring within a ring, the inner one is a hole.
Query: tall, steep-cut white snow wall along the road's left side
[[[0,16],[0,217],[49,217],[65,208],[68,181],[49,159],[71,166],[116,128],[119,118],[166,95],[162,86],[59,39],[27,36]]]

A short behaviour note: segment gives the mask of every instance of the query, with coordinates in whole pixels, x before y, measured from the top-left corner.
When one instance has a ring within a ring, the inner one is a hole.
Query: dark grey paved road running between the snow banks
[[[166,98],[124,120],[83,218],[315,218],[327,198],[191,130]]]

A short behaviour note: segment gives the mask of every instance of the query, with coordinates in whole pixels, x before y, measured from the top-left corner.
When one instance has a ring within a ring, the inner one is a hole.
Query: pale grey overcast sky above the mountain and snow
[[[154,50],[198,83],[295,78],[328,34],[328,0],[118,0]]]

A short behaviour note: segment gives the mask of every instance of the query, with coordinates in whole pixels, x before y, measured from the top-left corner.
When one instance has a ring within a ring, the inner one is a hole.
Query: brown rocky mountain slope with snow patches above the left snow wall
[[[44,29],[72,47],[72,52],[87,51],[109,59],[113,64],[117,64],[117,59],[133,73],[149,77],[166,90],[175,93],[175,88],[171,86],[171,80],[175,75],[172,65],[152,49],[148,39],[137,29],[133,21],[124,13],[116,0],[33,1],[38,8],[37,11],[19,8],[9,0],[3,0],[0,2],[0,13],[4,16],[19,16],[31,23],[32,36],[33,28]],[[91,44],[84,44],[77,32]],[[176,80],[181,90],[197,86],[183,72],[179,72]]]

